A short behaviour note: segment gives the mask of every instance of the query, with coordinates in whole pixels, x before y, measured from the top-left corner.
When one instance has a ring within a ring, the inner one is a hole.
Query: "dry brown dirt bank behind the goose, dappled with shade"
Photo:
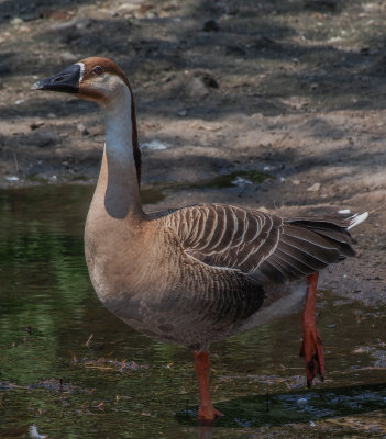
[[[106,56],[134,90],[143,185],[179,188],[152,209],[370,211],[321,286],[385,302],[385,22],[371,0],[0,0],[0,185],[96,181],[98,108],[31,86]]]

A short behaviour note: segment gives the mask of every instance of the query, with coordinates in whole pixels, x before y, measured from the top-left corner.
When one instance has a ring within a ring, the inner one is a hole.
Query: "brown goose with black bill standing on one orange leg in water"
[[[220,203],[145,213],[135,105],[122,69],[89,57],[32,88],[103,109],[106,144],[85,226],[89,275],[117,317],[157,341],[192,350],[198,418],[223,416],[210,393],[210,345],[301,306],[307,384],[318,374],[323,380],[318,275],[355,255],[350,229],[367,213],[282,218]]]

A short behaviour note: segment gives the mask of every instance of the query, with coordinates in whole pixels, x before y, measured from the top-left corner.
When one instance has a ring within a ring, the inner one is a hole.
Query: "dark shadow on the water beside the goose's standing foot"
[[[213,427],[280,426],[289,423],[359,415],[386,408],[386,385],[316,389],[280,394],[243,396],[216,404],[225,414]],[[177,414],[181,424],[197,425],[196,409]]]

